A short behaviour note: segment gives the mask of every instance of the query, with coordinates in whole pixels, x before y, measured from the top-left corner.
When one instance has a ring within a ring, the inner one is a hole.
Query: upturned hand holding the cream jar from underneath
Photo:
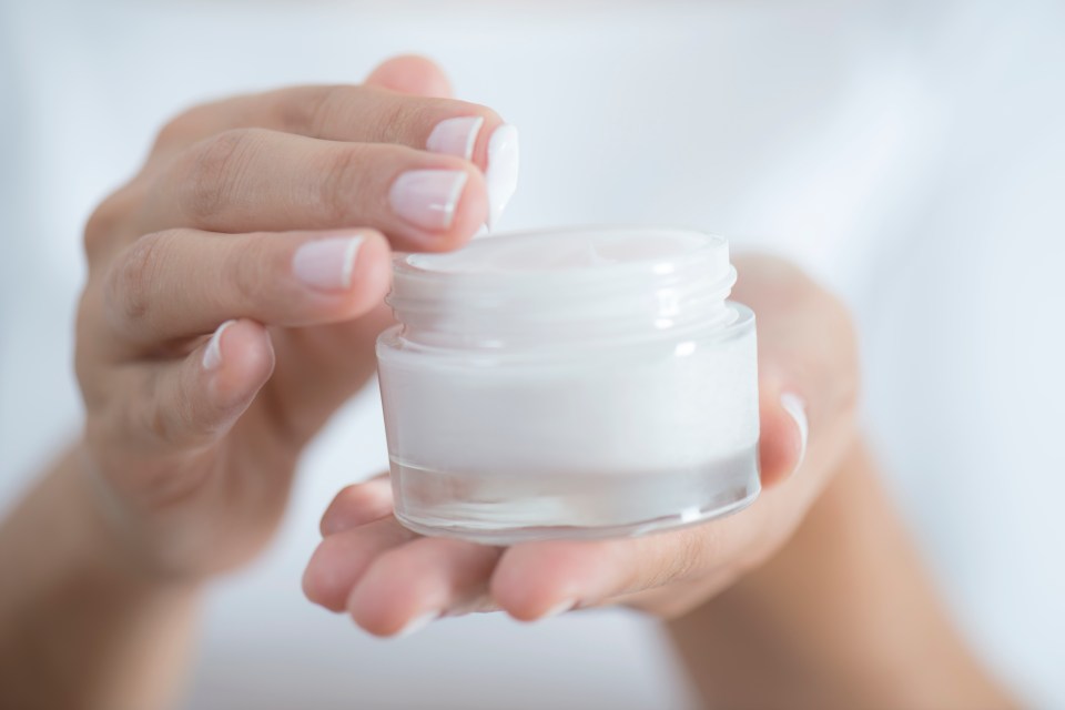
[[[387,479],[375,479],[345,488],[325,513],[307,597],[382,636],[494,609],[534,620],[625,604],[672,617],[765,560],[852,444],[859,377],[835,298],[775,258],[740,257],[737,267],[736,297],[758,316],[763,493],[754,505],[641,538],[497,548],[406,530],[392,516]]]

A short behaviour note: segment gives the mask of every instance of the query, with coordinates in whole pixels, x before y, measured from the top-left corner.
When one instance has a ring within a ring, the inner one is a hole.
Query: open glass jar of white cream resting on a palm
[[[728,242],[625,227],[395,257],[377,341],[406,527],[491,545],[639,535],[758,496],[754,315]]]

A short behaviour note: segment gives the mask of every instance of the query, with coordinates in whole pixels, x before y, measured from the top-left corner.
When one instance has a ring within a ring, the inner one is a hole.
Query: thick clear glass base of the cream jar
[[[712,520],[760,490],[754,447],[696,469],[645,475],[454,474],[392,462],[396,518],[485,545],[635,537]]]

